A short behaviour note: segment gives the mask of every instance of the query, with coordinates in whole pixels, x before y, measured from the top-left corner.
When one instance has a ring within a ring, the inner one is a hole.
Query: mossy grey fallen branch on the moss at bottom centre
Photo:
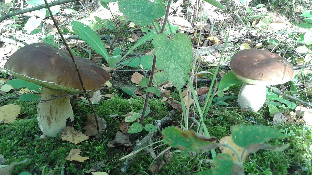
[[[163,126],[163,124],[167,123],[171,119],[171,117],[173,117],[174,113],[175,113],[175,110],[171,110],[167,116],[163,117],[161,120],[156,120],[154,122],[155,126],[157,127],[157,131],[160,130],[160,128]],[[145,147],[145,146],[147,146],[147,145],[149,145],[149,144],[151,144],[151,143],[153,143],[153,137],[157,133],[157,131],[149,132],[149,134],[147,134],[141,141],[136,143],[132,153],[143,148],[143,147]],[[121,168],[121,172],[127,171],[130,163],[133,161],[135,156],[136,156],[136,154],[134,154],[134,155],[132,155],[126,159],[126,162],[124,162],[124,166]]]

